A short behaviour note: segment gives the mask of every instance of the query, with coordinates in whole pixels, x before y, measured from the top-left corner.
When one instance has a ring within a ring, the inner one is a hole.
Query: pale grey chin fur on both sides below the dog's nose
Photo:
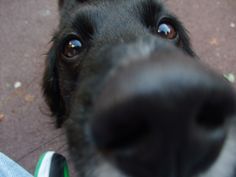
[[[225,142],[222,152],[217,160],[211,165],[209,169],[199,174],[188,177],[235,177],[235,157],[236,157],[236,127],[229,131],[229,136]],[[121,170],[116,168],[110,162],[100,159],[100,162],[89,169],[85,175],[86,177],[131,177]],[[147,176],[148,177],[148,176]],[[155,177],[155,176],[152,176]],[[159,177],[159,176],[158,176]],[[174,176],[175,177],[175,176]]]

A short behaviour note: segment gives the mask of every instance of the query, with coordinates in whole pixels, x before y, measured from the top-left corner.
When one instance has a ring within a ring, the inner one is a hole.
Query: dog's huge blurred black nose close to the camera
[[[91,134],[131,175],[184,177],[215,160],[235,107],[222,76],[181,52],[159,53],[112,73]]]

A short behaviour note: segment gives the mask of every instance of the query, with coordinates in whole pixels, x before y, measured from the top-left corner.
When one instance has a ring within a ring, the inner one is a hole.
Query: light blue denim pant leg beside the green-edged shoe
[[[33,177],[24,168],[0,152],[0,177]]]

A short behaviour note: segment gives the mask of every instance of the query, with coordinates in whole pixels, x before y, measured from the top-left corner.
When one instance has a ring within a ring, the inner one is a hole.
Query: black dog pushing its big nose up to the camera
[[[175,16],[157,0],[59,7],[43,91],[80,177],[235,177],[233,88]]]

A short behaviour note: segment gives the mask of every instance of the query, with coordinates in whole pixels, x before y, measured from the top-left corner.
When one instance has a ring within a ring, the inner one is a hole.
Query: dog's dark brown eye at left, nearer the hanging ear
[[[82,42],[78,37],[71,37],[64,44],[63,55],[67,58],[72,58],[81,52],[82,47]]]

